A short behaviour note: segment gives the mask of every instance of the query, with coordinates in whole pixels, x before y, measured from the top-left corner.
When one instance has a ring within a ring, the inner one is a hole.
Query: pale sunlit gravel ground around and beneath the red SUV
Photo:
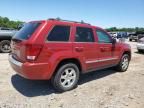
[[[81,76],[76,89],[56,93],[49,81],[18,75],[0,54],[0,108],[144,108],[144,54],[131,42],[132,61],[125,73],[106,69]]]

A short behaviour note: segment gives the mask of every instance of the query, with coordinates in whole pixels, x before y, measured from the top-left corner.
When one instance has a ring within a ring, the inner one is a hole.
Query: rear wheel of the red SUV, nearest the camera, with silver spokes
[[[77,86],[79,69],[76,64],[62,65],[53,76],[52,85],[59,92],[69,91]]]

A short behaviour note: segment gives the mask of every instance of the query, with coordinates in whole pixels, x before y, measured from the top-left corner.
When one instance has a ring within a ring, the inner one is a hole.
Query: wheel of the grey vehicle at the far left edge
[[[0,52],[2,53],[9,53],[11,51],[10,48],[10,41],[9,40],[3,40],[0,42]]]

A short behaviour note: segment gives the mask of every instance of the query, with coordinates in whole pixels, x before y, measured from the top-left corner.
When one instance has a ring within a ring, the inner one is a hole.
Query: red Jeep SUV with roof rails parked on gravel
[[[102,28],[60,19],[32,21],[12,38],[9,62],[22,77],[51,79],[55,89],[76,87],[81,73],[109,67],[126,71],[131,48]]]

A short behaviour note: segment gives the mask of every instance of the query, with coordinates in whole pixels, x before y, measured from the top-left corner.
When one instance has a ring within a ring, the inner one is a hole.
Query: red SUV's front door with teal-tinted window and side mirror
[[[118,60],[116,44],[112,43],[110,37],[104,30],[96,29],[99,48],[99,66],[109,67],[115,65]]]

